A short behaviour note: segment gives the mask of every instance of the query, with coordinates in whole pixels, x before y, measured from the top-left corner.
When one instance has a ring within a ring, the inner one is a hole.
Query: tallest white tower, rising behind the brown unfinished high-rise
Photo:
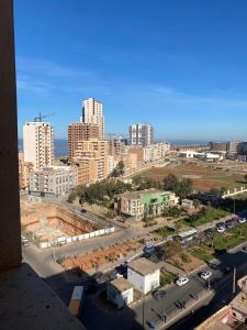
[[[100,140],[104,139],[104,117],[103,105],[94,98],[89,98],[82,102],[82,123],[97,124],[100,130]]]

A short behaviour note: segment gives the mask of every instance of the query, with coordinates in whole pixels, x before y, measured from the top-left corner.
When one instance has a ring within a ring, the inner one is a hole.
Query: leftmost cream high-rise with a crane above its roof
[[[24,162],[41,169],[54,164],[54,130],[49,123],[26,122],[23,125]]]

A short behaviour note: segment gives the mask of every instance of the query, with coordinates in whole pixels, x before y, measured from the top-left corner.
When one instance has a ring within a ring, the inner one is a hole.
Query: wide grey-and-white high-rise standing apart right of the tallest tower
[[[154,143],[154,128],[149,124],[133,124],[128,129],[131,145],[149,145]]]

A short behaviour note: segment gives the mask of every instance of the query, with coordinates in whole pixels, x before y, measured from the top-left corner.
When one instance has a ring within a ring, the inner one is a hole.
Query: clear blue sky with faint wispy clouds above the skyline
[[[20,135],[42,111],[66,138],[96,97],[108,132],[247,140],[246,16],[246,0],[15,0]]]

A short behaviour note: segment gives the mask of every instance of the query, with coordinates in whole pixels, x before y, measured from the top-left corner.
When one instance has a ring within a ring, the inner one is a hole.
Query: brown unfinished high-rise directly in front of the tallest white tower
[[[99,125],[92,123],[70,123],[68,125],[68,156],[75,156],[79,141],[100,139]]]

